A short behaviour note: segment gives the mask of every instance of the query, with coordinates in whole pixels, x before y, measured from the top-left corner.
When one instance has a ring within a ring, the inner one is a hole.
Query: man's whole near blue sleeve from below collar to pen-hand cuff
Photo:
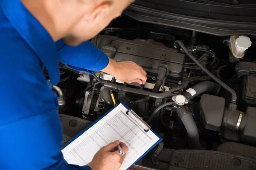
[[[64,161],[58,101],[44,65],[1,11],[0,23],[0,169],[91,170]]]

